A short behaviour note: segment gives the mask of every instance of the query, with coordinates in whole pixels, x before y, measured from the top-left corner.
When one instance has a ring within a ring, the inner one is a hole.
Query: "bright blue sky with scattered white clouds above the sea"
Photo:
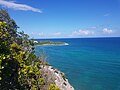
[[[120,37],[120,0],[0,0],[30,38]]]

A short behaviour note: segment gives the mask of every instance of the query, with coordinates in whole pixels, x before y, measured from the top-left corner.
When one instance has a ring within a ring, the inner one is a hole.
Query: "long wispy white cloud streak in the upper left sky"
[[[7,8],[11,8],[14,10],[23,10],[23,11],[33,11],[33,12],[39,12],[42,13],[42,11],[40,9],[31,7],[29,5],[26,4],[17,4],[14,1],[6,1],[6,0],[0,0],[0,5],[7,7]]]

